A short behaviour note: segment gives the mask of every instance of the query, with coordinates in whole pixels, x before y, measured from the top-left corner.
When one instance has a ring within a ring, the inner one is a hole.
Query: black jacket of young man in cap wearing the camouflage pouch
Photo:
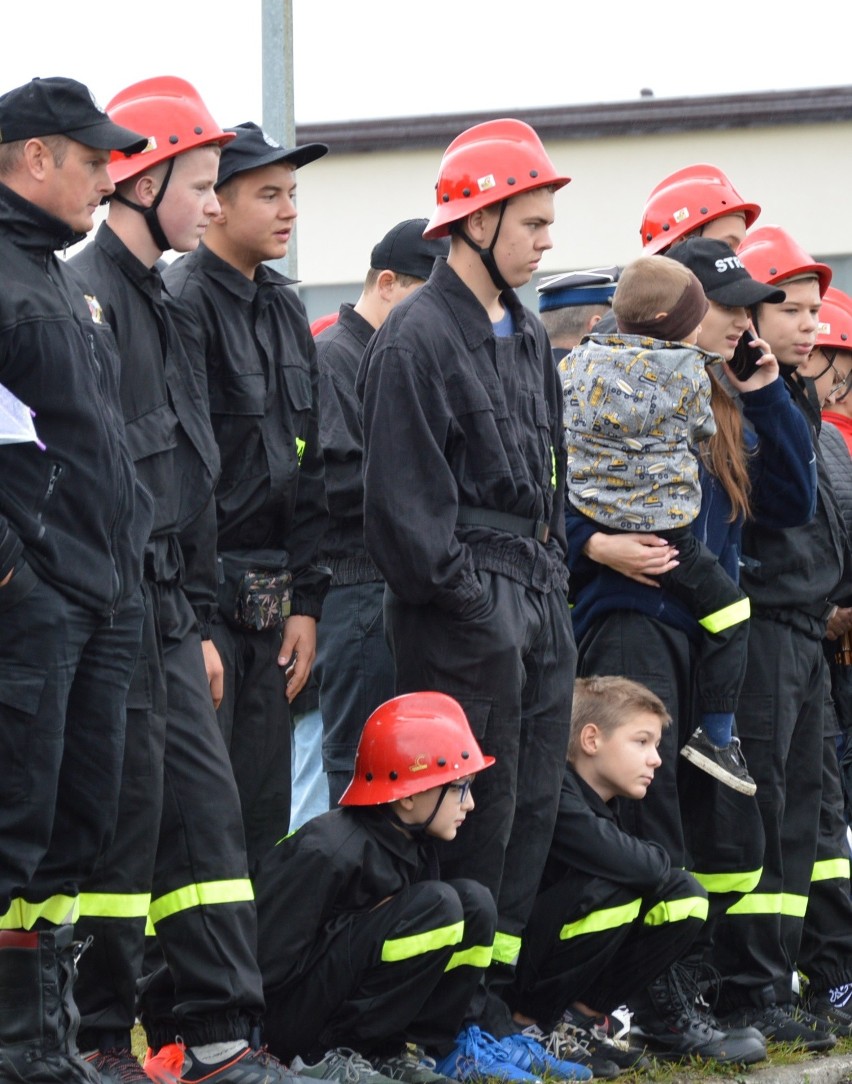
[[[271,268],[250,281],[203,244],[164,279],[222,460],[219,551],[286,551],[293,612],[319,617],[328,576],[317,550],[328,511],[305,307]]]

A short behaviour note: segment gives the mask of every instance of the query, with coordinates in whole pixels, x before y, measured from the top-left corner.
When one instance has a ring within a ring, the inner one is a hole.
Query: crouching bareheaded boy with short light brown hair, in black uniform
[[[515,1020],[550,1033],[556,1056],[561,1038],[580,1038],[620,1068],[640,1060],[605,1038],[606,1014],[627,1002],[634,1036],[655,1057],[765,1057],[754,1034],[725,1034],[702,1015],[677,963],[707,917],[707,893],[660,846],[619,826],[615,799],[645,797],[669,723],[662,701],[637,682],[575,684],[556,830],[511,993]]]

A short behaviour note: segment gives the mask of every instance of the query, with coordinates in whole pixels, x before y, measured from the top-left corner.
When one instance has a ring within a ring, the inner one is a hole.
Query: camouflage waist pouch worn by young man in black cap
[[[219,562],[219,608],[224,619],[247,632],[280,630],[293,599],[287,554],[280,550],[223,553]]]

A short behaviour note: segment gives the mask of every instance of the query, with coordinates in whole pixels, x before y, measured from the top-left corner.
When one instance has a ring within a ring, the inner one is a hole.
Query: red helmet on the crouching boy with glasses
[[[462,706],[443,693],[409,693],[364,723],[352,782],[340,805],[380,805],[440,787],[494,763],[485,757]]]

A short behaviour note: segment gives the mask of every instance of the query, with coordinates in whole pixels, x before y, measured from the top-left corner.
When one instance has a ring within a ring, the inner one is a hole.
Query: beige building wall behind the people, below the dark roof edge
[[[845,212],[852,122],[548,141],[573,180],[556,197],[550,273],[625,263],[640,251],[644,201],[667,173],[697,162],[720,166],[746,199],[763,207],[812,254],[852,254]],[[298,273],[307,287],[363,279],[370,249],[403,218],[434,206],[441,149],[335,155],[299,177]],[[847,287],[849,288],[849,287]]]

